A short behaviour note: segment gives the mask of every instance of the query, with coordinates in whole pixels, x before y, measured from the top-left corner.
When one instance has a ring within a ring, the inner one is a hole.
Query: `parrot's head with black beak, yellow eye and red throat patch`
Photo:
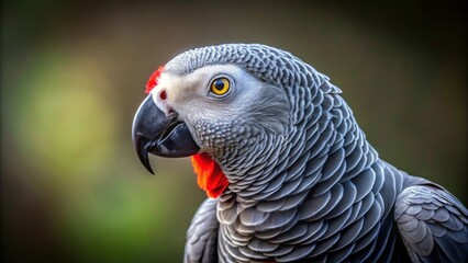
[[[185,52],[159,67],[132,127],[142,163],[153,173],[148,153],[191,157],[210,197],[254,182],[254,170],[278,155],[300,122],[291,58],[264,45],[226,44]]]

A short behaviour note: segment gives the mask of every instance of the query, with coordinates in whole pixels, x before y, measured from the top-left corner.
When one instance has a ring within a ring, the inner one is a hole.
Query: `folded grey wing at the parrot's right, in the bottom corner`
[[[468,262],[468,210],[442,186],[404,188],[394,219],[413,262]]]

